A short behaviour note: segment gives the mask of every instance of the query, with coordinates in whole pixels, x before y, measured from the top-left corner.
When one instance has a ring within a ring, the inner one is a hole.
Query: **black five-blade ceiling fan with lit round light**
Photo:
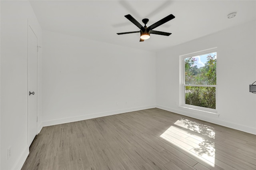
[[[151,26],[147,27],[146,24],[148,23],[148,18],[144,18],[142,20],[142,22],[145,24],[145,26],[143,27],[138,21],[136,21],[130,14],[125,15],[125,18],[127,18],[128,20],[130,20],[130,22],[132,22],[134,25],[136,25],[138,28],[140,28],[140,31],[133,31],[133,32],[122,32],[122,33],[116,33],[118,35],[121,34],[131,34],[131,33],[136,33],[136,32],[140,32],[140,42],[144,42],[144,40],[147,40],[148,38],[150,38],[150,34],[158,34],[158,35],[162,35],[162,36],[170,36],[172,33],[168,33],[168,32],[161,32],[161,31],[154,31],[153,29],[172,20],[173,18],[175,18],[174,15],[170,14],[168,16],[166,16],[165,18],[163,18],[162,20],[159,20],[158,22],[156,22],[155,24],[152,24]]]

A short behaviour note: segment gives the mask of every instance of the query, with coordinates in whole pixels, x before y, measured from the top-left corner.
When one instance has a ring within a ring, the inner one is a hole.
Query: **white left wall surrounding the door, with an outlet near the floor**
[[[42,42],[40,26],[28,1],[1,1],[1,170],[20,169],[29,152],[27,128],[27,29],[30,23]],[[42,44],[42,43],[41,43]],[[42,61],[39,55],[39,62]],[[41,63],[39,63],[39,69]],[[38,71],[40,74],[42,71]],[[41,81],[41,78],[39,77]],[[40,87],[40,86],[39,86]],[[38,93],[41,90],[38,89]],[[40,94],[39,111],[41,117]],[[12,155],[7,160],[7,148]]]

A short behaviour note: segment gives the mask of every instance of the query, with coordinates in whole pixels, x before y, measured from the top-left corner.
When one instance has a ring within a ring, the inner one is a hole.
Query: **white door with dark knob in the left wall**
[[[37,55],[38,39],[28,26],[28,145],[37,134]]]

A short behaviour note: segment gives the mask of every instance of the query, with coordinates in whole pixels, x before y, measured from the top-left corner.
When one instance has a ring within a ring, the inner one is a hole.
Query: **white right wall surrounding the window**
[[[157,53],[157,107],[256,134],[256,95],[249,93],[249,84],[256,81],[255,28],[252,21]],[[179,55],[212,47],[218,47],[216,105],[219,117],[176,105],[179,103]]]

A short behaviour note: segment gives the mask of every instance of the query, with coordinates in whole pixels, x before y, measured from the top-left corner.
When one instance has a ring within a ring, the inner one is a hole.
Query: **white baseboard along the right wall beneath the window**
[[[180,115],[192,117],[192,118],[195,118],[195,119],[200,119],[202,121],[207,121],[207,122],[210,122],[210,123],[214,123],[216,125],[221,125],[221,126],[224,126],[224,127],[233,128],[233,129],[240,130],[240,131],[243,131],[243,132],[256,134],[256,129],[253,128],[253,127],[239,125],[239,124],[235,124],[235,123],[227,122],[227,121],[221,121],[221,120],[218,120],[218,118],[216,118],[216,119],[210,119],[210,118],[207,119],[207,117],[202,116],[201,113],[196,114],[194,112],[187,112],[187,111],[183,111],[181,109],[179,110],[179,109],[174,109],[174,108],[165,107],[165,106],[161,106],[161,105],[156,105],[156,108],[162,109],[162,110],[165,110],[165,111],[170,111],[170,112],[173,112],[173,113],[177,113],[177,114],[180,114]]]

